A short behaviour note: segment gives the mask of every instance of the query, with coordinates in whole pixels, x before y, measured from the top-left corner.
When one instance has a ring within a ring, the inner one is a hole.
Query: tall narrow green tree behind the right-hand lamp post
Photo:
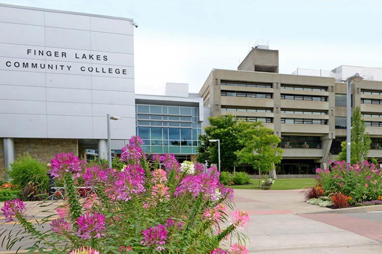
[[[351,115],[351,139],[350,139],[350,163],[361,162],[362,158],[367,160],[369,154],[371,139],[366,132],[366,124],[362,119],[361,109],[354,108]],[[341,143],[342,150],[339,153],[338,160],[346,161],[346,141]]]

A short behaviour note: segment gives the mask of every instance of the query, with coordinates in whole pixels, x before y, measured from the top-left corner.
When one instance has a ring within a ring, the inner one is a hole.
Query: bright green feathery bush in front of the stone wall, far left
[[[26,186],[33,182],[39,194],[45,193],[48,189],[49,180],[46,174],[46,166],[34,158],[29,153],[19,156],[14,163],[11,163],[11,170],[7,171],[12,178],[12,183],[19,186]]]

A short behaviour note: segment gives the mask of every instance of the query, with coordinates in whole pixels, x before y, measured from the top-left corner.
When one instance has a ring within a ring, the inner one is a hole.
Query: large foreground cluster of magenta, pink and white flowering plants
[[[153,164],[163,169],[152,169],[141,144],[139,137],[130,139],[121,156],[122,170],[57,154],[51,161],[52,175],[64,180],[65,202],[44,201],[42,206],[56,208],[39,228],[26,219],[20,200],[6,202],[6,219],[17,219],[36,240],[30,252],[248,253],[241,231],[249,215],[233,209],[233,190],[219,181],[216,167],[205,171],[203,165],[179,164],[173,154],[165,154],[153,156]],[[94,192],[81,198],[79,186]],[[7,248],[22,240],[5,230],[0,235]],[[228,244],[233,236],[238,242]]]

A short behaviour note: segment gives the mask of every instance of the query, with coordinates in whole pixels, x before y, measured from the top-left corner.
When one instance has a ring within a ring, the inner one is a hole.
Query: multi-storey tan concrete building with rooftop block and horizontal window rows
[[[347,69],[335,69],[338,76],[333,77],[329,72],[328,77],[280,74],[278,50],[255,47],[237,71],[213,69],[200,93],[212,116],[232,114],[275,130],[284,149],[279,174],[312,175],[334,160],[345,140],[346,84],[336,77],[350,76]],[[382,82],[363,80],[351,92],[372,138],[369,156],[380,159]]]

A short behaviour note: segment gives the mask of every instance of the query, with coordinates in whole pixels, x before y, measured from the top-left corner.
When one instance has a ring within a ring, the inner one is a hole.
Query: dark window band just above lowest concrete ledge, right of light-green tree
[[[320,137],[281,136],[282,148],[321,148]]]

